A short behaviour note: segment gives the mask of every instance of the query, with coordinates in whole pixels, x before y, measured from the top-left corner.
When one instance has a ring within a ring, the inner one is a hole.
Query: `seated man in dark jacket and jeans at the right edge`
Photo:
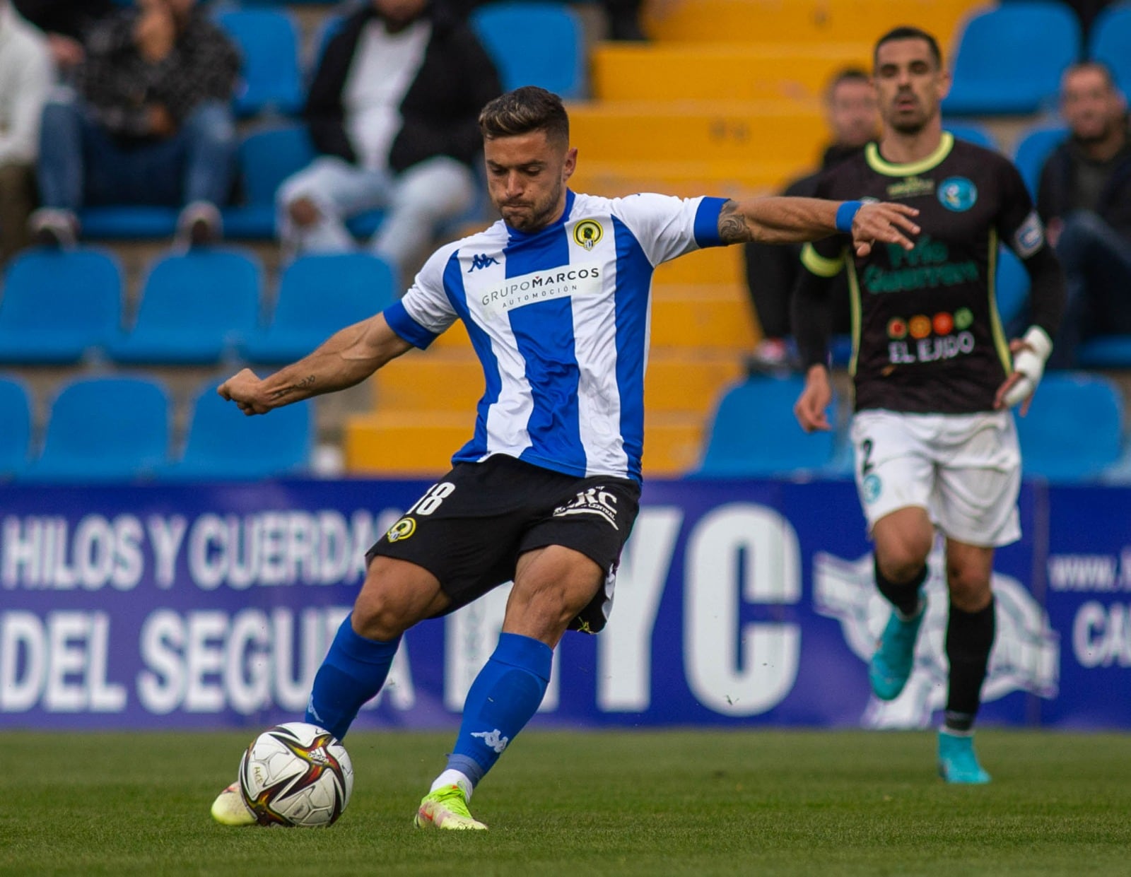
[[[1112,72],[1070,67],[1061,112],[1071,132],[1041,172],[1037,211],[1068,279],[1051,366],[1071,367],[1093,335],[1131,335],[1131,137]]]

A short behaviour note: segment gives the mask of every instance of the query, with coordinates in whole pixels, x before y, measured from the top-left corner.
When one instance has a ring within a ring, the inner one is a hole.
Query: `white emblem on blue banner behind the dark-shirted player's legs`
[[[947,700],[947,606],[942,549],[932,552],[931,574],[924,585],[926,617],[915,645],[915,663],[907,686],[893,701],[870,697],[862,704],[866,728],[926,728],[931,714]],[[993,574],[998,635],[982,687],[983,701],[1011,692],[1055,697],[1060,681],[1060,637],[1048,615],[1016,579]],[[813,609],[836,618],[853,653],[867,663],[888,620],[890,607],[875,590],[872,555],[847,561],[819,553],[813,558]]]

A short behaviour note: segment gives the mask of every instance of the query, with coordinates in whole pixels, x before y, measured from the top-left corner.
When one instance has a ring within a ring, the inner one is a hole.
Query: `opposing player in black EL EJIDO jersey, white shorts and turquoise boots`
[[[973,726],[994,637],[993,554],[1020,536],[1020,452],[1009,408],[1020,402],[1024,413],[1041,380],[1064,285],[1017,170],[942,130],[949,77],[934,38],[910,27],[886,34],[873,80],[881,139],[828,172],[817,196],[904,202],[918,209],[922,233],[910,251],[878,245],[863,257],[843,237],[805,246],[794,325],[808,371],[795,413],[806,431],[829,428],[827,289],[846,267],[856,485],[877,588],[893,607],[869,678],[878,697],[893,700],[910,675],[938,528],[950,591],[939,770],[949,782],[984,783]],[[1012,344],[994,302],[999,242],[1025,261],[1033,288],[1034,325]]]

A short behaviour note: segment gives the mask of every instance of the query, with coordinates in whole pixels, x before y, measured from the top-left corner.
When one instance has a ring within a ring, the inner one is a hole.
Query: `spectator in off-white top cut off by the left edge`
[[[53,83],[46,40],[0,0],[0,264],[28,242],[40,119]]]

